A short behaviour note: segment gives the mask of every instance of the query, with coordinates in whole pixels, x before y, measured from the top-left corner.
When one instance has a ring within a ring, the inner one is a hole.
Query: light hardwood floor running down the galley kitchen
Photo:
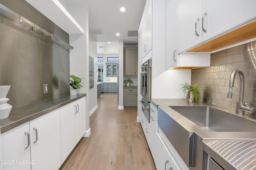
[[[82,138],[60,170],[155,170],[137,109],[118,110],[116,94],[102,94]]]

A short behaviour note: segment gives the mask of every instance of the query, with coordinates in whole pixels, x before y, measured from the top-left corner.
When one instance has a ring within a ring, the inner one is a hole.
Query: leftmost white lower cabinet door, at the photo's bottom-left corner
[[[22,164],[22,161],[30,161],[30,146],[28,146],[29,124],[24,123],[16,128],[1,134],[3,170],[30,170],[30,164]],[[25,148],[28,146],[28,148]],[[7,164],[9,163],[9,164]],[[34,162],[36,164],[36,162]]]

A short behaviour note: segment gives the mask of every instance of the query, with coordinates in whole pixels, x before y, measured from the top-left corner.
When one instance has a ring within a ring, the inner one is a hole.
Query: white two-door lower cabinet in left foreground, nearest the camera
[[[60,109],[8,130],[1,136],[2,160],[6,161],[4,170],[60,168]]]

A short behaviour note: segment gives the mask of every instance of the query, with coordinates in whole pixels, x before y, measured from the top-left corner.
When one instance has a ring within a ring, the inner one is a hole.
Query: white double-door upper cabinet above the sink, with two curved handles
[[[256,19],[255,0],[179,0],[178,53]]]

